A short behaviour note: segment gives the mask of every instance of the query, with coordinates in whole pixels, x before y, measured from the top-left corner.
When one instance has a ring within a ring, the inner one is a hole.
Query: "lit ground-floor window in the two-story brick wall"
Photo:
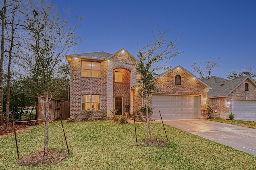
[[[100,110],[100,95],[82,94],[82,110]]]

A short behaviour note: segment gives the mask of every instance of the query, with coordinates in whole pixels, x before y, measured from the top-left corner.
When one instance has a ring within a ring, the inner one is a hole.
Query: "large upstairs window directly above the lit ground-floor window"
[[[100,63],[82,61],[82,77],[100,77]]]

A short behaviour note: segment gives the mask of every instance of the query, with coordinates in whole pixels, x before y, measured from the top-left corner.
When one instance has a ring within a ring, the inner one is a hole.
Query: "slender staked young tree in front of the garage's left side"
[[[149,133],[149,140],[152,143],[152,135],[148,117],[148,97],[158,92],[156,89],[155,78],[158,76],[159,70],[168,70],[170,66],[167,65],[167,61],[169,61],[172,57],[180,55],[182,52],[178,52],[176,46],[178,45],[177,39],[171,40],[166,43],[165,34],[169,31],[165,31],[161,33],[158,26],[158,35],[156,36],[152,31],[154,41],[150,41],[147,43],[145,47],[142,47],[137,52],[137,57],[140,59],[140,63],[137,64],[137,72],[140,73],[140,79],[137,83],[141,84],[138,93],[140,97],[145,101],[146,106],[146,117],[147,117],[147,126]],[[160,62],[164,62],[162,66]]]

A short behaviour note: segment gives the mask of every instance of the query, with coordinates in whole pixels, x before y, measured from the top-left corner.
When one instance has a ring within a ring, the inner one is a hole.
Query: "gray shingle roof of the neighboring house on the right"
[[[203,78],[202,81],[212,87],[212,89],[208,92],[208,98],[216,98],[228,97],[231,92],[233,92],[238,86],[240,86],[240,84],[242,84],[247,79],[249,79],[256,86],[255,82],[248,76],[235,78],[232,80],[211,76],[209,78]]]

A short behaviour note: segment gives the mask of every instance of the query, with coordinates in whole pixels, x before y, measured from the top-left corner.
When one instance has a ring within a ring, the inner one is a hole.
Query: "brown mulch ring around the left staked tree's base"
[[[29,156],[26,156],[19,160],[19,164],[21,165],[50,165],[56,162],[60,162],[66,160],[68,158],[68,153],[66,150],[48,150],[48,154],[44,156],[44,151],[39,151]]]

